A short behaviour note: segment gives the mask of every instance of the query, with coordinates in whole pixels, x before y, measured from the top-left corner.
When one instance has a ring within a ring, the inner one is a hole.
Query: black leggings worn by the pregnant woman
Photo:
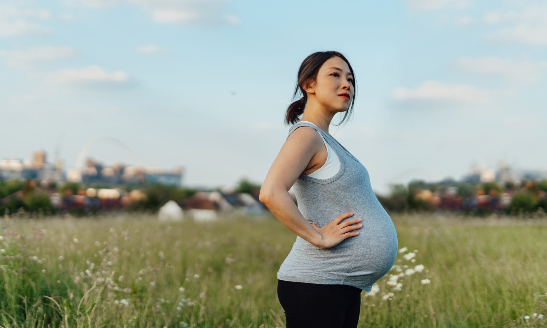
[[[356,328],[361,291],[349,285],[277,279],[277,297],[285,311],[287,328]]]

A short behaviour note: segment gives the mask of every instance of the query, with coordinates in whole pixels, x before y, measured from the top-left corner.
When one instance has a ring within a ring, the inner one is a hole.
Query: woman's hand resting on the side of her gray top
[[[322,226],[321,228],[318,227],[315,222],[312,222],[315,230],[321,233],[322,236],[316,246],[319,248],[331,248],[333,246],[336,246],[337,244],[340,244],[346,238],[357,236],[359,234],[359,231],[353,230],[361,229],[363,225],[353,224],[360,222],[361,218],[346,220],[342,222],[342,220],[349,218],[350,216],[353,216],[353,213],[346,212],[344,214],[340,214],[336,216],[336,219],[334,219],[332,222]]]

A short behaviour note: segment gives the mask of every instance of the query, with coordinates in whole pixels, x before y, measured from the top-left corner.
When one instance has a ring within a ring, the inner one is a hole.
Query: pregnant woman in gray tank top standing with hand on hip
[[[352,113],[355,87],[340,52],[315,52],[302,62],[293,95],[302,98],[287,109],[292,126],[260,190],[260,201],[297,235],[277,272],[287,328],[357,327],[361,291],[370,291],[397,255],[397,232],[368,171],[329,134],[336,113],[345,112],[342,121]]]

